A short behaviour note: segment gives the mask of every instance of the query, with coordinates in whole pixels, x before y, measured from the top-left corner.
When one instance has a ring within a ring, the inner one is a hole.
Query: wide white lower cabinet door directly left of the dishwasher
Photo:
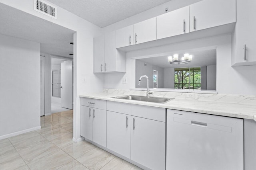
[[[165,169],[165,123],[132,116],[131,159],[153,169]]]

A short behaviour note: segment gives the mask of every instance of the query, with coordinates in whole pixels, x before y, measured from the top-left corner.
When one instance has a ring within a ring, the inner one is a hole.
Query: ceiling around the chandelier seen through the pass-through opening
[[[216,65],[216,49],[204,50],[204,51],[184,51],[184,53],[189,53],[193,55],[193,61],[188,64],[170,64],[168,63],[168,56],[151,57],[146,59],[139,59],[148,64],[154,66],[159,66],[162,68],[183,68],[183,67],[196,67],[196,66],[207,66]],[[179,53],[179,56],[184,55],[184,53]],[[173,55],[173,54],[170,54]]]

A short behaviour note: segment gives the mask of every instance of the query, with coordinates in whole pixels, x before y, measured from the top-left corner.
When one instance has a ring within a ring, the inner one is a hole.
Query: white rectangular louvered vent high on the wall
[[[42,0],[34,0],[34,10],[57,19],[57,8]]]

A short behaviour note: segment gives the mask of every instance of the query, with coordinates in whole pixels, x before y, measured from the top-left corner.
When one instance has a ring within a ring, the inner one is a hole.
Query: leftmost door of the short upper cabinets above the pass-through
[[[133,25],[116,30],[116,48],[134,44]]]

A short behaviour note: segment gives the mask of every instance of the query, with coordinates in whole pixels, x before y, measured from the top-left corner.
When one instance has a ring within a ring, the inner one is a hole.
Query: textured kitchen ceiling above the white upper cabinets
[[[170,0],[48,0],[81,18],[106,27]]]

